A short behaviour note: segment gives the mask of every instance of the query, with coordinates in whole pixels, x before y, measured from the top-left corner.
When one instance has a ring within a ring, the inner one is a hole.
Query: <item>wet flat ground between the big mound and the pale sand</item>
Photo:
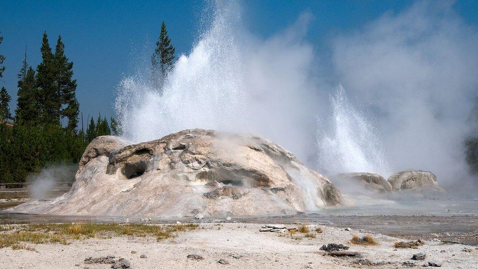
[[[159,219],[149,223],[181,222],[247,222],[247,223],[309,223],[335,227],[350,227],[361,232],[373,232],[404,239],[440,240],[478,245],[478,201],[415,201],[386,202],[385,204],[340,207],[322,210],[319,213],[289,216],[250,218]],[[142,222],[141,218],[94,217],[94,216],[48,216],[6,214],[0,211],[0,224],[32,222]]]

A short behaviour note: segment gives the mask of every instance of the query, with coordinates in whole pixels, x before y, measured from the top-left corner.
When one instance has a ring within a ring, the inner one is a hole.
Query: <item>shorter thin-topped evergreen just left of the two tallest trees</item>
[[[36,124],[38,120],[38,100],[37,88],[35,83],[35,71],[28,66],[25,58],[23,60],[22,69],[17,75],[18,92],[17,92],[17,109],[15,109],[15,121],[17,123]]]

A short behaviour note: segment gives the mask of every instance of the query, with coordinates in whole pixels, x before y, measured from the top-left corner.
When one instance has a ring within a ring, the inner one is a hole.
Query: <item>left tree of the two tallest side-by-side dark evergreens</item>
[[[60,125],[62,98],[55,83],[55,58],[48,43],[47,32],[43,33],[42,62],[37,66],[36,86],[41,124]]]

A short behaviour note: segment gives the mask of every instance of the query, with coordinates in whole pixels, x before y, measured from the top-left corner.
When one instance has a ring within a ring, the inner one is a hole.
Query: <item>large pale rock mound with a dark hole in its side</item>
[[[52,215],[205,217],[294,214],[343,204],[323,175],[283,147],[250,134],[183,130],[128,145],[97,137],[69,193],[11,212]]]

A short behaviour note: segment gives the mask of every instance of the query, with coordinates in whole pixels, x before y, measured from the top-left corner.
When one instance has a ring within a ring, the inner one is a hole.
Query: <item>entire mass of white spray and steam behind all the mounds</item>
[[[468,178],[462,142],[478,86],[478,34],[452,4],[418,2],[336,36],[328,73],[318,73],[324,70],[318,59],[326,57],[314,55],[304,39],[311,14],[262,39],[242,28],[240,13],[238,4],[217,4],[210,27],[162,87],[150,83],[148,72],[121,81],[116,110],[126,139],[188,128],[252,132],[319,172],[414,168],[435,172],[441,183]],[[336,80],[331,85],[323,77]],[[344,117],[359,117],[370,128],[345,130],[360,131],[350,139],[364,143],[317,162],[317,154],[327,154],[324,141],[350,142],[337,139],[337,124],[329,120],[336,109],[329,95],[339,83],[349,94]],[[377,154],[369,154],[374,148]],[[365,165],[343,162],[357,154]]]

